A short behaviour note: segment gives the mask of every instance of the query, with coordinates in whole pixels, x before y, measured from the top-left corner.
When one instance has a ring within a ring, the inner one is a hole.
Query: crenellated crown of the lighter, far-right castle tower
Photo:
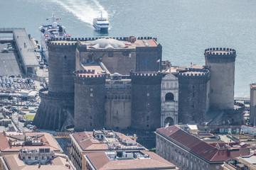
[[[235,62],[236,51],[232,48],[214,47],[205,50],[207,62],[227,63]]]

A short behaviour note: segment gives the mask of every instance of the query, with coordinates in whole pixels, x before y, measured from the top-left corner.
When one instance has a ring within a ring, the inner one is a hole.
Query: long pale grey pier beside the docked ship
[[[35,46],[31,42],[31,36],[26,33],[25,28],[0,28],[0,33],[12,33],[13,42],[21,59],[25,73],[35,74],[38,67]]]

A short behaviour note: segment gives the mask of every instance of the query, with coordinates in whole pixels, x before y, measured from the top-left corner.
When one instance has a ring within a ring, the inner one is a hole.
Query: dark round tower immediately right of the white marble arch
[[[178,123],[203,123],[209,108],[210,73],[186,69],[178,73]]]

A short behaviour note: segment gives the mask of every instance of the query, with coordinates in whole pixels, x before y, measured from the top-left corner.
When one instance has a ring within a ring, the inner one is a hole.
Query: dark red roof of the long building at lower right
[[[183,147],[186,147],[188,150],[191,150],[208,161],[225,161],[238,157],[240,154],[247,155],[250,153],[247,145],[233,151],[228,149],[217,149],[213,145],[198,139],[198,137],[188,134],[188,132],[181,130],[175,125],[167,128],[159,128],[156,132],[160,132],[172,140],[175,140],[180,145],[183,145]]]

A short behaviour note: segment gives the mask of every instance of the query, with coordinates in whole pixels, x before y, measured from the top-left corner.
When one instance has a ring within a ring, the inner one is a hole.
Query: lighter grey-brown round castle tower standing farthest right
[[[231,48],[205,50],[206,66],[210,69],[210,109],[234,108],[235,57]]]

